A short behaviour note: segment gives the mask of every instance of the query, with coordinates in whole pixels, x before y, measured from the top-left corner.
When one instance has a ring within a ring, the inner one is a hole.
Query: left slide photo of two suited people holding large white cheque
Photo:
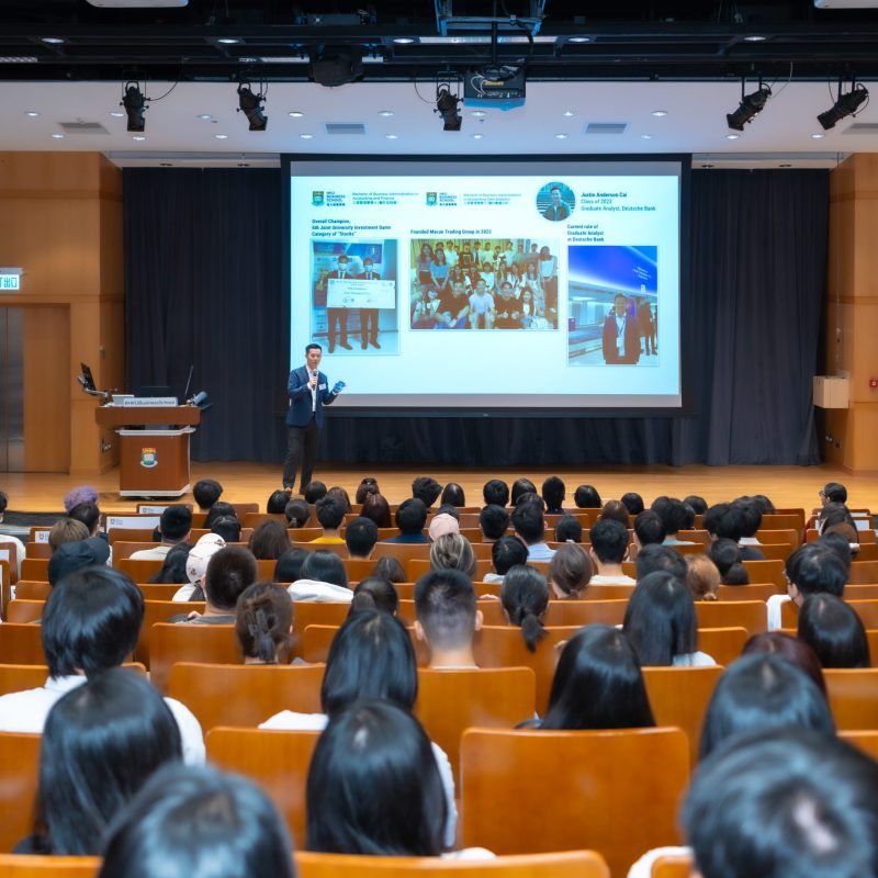
[[[313,240],[311,337],[327,353],[397,353],[396,250],[390,240]]]

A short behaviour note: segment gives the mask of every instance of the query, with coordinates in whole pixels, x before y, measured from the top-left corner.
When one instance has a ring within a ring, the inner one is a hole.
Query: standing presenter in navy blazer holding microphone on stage
[[[286,393],[290,408],[286,412],[286,458],[283,461],[283,486],[292,489],[295,474],[302,463],[302,479],[299,492],[303,493],[311,482],[317,446],[323,427],[323,407],[331,405],[345,389],[339,381],[329,390],[329,381],[319,371],[323,348],[308,345],[305,348],[305,364],[290,372]]]

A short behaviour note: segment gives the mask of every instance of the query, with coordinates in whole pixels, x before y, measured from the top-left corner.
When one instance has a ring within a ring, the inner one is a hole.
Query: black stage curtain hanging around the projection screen
[[[193,444],[196,460],[283,455],[285,189],[277,170],[124,172],[128,384],[182,389],[195,364],[195,389],[215,403]],[[324,430],[322,457],[468,466],[818,463],[811,376],[829,172],[694,171],[689,213],[685,415],[339,412]],[[517,367],[473,363],[483,375],[498,368]]]

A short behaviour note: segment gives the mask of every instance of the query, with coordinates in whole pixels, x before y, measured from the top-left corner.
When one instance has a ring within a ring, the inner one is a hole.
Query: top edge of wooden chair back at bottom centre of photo
[[[350,854],[295,853],[299,878],[609,878],[595,851],[524,854],[495,859],[454,860],[439,857],[370,857]]]

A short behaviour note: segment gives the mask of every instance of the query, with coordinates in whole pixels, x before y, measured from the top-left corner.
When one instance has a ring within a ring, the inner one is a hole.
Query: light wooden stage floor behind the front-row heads
[[[627,491],[640,493],[646,504],[661,494],[685,497],[700,494],[708,503],[719,503],[742,494],[766,494],[775,506],[800,506],[811,509],[819,505],[818,491],[826,482],[841,482],[847,486],[849,504],[857,508],[878,510],[878,477],[854,479],[837,466],[600,466],[549,469],[469,470],[453,466],[393,466],[362,465],[338,466],[318,464],[315,479],[327,485],[341,485],[351,498],[360,479],[374,476],[382,493],[391,503],[410,496],[412,480],[417,475],[432,475],[441,484],[459,482],[471,505],[481,505],[482,485],[492,477],[511,483],[519,476],[531,479],[539,487],[549,475],[560,475],[567,486],[569,505],[576,485],[592,484],[604,500],[618,498]],[[191,482],[212,477],[224,486],[223,499],[229,502],[258,502],[264,508],[269,494],[280,487],[281,464],[262,463],[193,463]],[[100,492],[103,511],[123,511],[134,508],[130,498],[122,499],[117,492],[119,472],[111,470],[99,479],[85,482],[63,473],[0,473],[0,489],[9,495],[9,508],[15,511],[59,511],[61,498],[72,487],[92,484]],[[189,494],[183,500],[192,499]]]

